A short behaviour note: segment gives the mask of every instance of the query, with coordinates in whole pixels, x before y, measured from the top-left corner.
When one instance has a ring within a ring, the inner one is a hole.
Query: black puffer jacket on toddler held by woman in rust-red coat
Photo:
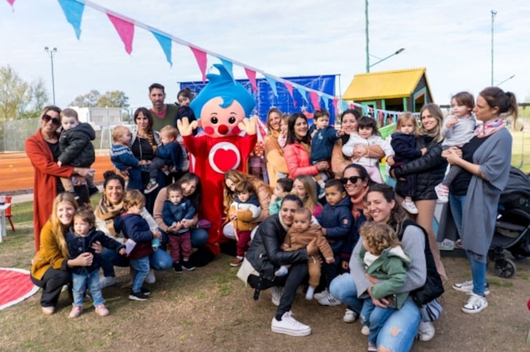
[[[88,168],[95,161],[94,146],[91,142],[94,139],[94,128],[85,122],[65,130],[59,137],[59,162],[77,168]]]

